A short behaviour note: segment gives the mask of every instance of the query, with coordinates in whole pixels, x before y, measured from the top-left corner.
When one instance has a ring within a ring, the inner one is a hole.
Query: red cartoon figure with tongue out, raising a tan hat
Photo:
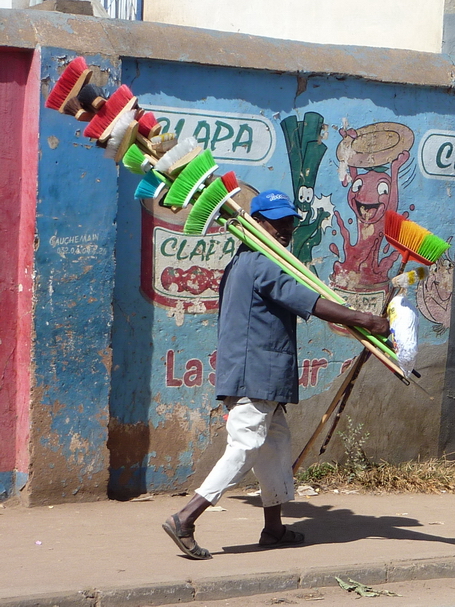
[[[396,251],[389,253],[388,244],[381,250],[385,212],[398,209],[398,172],[410,158],[414,135],[402,124],[385,122],[341,129],[340,135],[339,174],[343,186],[349,188],[347,200],[356,217],[357,235],[351,242],[349,229],[335,211],[343,261],[335,262],[331,281],[349,303],[380,314],[389,290],[388,274],[399,256]],[[341,257],[335,243],[330,250]]]

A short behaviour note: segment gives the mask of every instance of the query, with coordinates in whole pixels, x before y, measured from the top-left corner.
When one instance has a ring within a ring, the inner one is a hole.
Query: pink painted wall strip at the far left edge
[[[39,54],[0,50],[0,472],[28,471]]]

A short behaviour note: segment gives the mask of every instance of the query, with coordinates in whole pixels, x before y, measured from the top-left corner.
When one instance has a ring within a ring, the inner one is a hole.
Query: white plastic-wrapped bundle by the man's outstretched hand
[[[405,376],[409,377],[418,351],[418,311],[404,295],[397,295],[390,302],[387,315],[398,364]]]

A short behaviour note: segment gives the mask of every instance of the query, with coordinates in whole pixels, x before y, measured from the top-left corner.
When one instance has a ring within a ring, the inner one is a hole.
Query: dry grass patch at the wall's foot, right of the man
[[[455,493],[455,461],[446,457],[390,464],[381,461],[353,473],[352,465],[313,464],[296,474],[299,484],[321,491],[334,489],[380,493]]]

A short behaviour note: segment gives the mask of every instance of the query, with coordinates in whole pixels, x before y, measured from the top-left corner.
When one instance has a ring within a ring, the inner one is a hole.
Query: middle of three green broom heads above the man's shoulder
[[[169,207],[186,207],[199,187],[217,168],[210,150],[196,156],[174,181],[164,204]]]

